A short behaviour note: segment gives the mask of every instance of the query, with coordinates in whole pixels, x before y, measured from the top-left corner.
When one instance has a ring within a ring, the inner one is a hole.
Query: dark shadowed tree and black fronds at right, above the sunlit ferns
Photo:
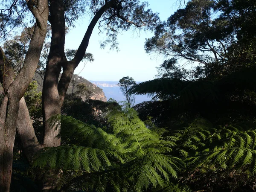
[[[135,106],[140,117],[152,116],[157,126],[168,127],[197,116],[217,124],[255,123],[255,5],[253,0],[190,0],[158,25],[145,50],[168,58],[157,79],[131,91],[157,100]]]

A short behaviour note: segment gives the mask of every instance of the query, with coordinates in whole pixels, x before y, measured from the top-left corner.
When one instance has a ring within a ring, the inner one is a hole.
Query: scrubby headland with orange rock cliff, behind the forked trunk
[[[42,87],[44,82],[43,78],[44,76],[42,74],[35,73],[33,80],[38,82],[38,91],[42,91],[43,89]],[[77,75],[72,77],[72,80],[67,89],[67,94],[76,93],[77,91],[76,85],[80,83],[86,84],[86,87],[88,88],[88,90],[90,90],[93,93],[90,99],[100,100],[104,102],[107,101],[107,97],[105,96],[105,93],[101,88],[97,87],[95,84],[91,83],[90,81],[87,81],[83,77],[77,76]]]

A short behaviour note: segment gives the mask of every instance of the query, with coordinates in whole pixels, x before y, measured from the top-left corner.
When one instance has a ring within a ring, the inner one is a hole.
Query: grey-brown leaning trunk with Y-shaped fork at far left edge
[[[36,24],[23,68],[15,79],[11,64],[0,48],[0,66],[2,69],[0,80],[5,94],[0,106],[0,192],[9,192],[10,190],[13,147],[20,99],[34,76],[47,32],[48,1],[28,1],[28,7],[36,18]]]

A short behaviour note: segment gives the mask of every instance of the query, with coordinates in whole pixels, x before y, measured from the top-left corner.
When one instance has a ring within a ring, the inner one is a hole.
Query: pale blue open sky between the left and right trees
[[[148,8],[158,12],[161,20],[167,20],[177,9],[177,0],[148,0]],[[77,49],[84,37],[90,17],[76,21],[76,28],[70,29],[66,36],[65,49]],[[100,48],[99,42],[104,40],[105,34],[99,35],[96,27],[89,41],[87,52],[93,54],[94,61],[81,62],[75,73],[92,81],[119,81],[124,76],[133,77],[135,81],[147,81],[157,75],[156,67],[164,60],[163,56],[147,54],[144,50],[146,38],[153,33],[140,31],[140,34],[130,30],[118,35],[119,52]],[[84,69],[83,69],[84,68]],[[83,70],[82,70],[83,69]],[[81,72],[81,73],[80,73]]]

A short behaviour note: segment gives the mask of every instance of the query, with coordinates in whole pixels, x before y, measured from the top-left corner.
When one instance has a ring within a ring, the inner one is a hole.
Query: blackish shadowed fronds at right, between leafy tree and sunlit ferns
[[[159,78],[134,86],[136,94],[149,94],[157,101],[135,106],[145,120],[152,116],[157,126],[173,127],[203,116],[217,124],[255,122],[256,71],[241,70],[222,79],[186,81]],[[180,122],[178,122],[180,121]]]

